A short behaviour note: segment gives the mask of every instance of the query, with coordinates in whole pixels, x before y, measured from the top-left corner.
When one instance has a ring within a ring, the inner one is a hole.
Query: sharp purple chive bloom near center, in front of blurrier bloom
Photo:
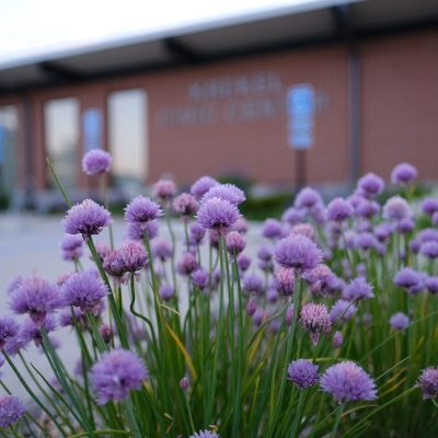
[[[201,203],[197,220],[204,228],[217,230],[221,234],[224,234],[227,229],[241,216],[234,204],[231,204],[227,199],[214,197]]]

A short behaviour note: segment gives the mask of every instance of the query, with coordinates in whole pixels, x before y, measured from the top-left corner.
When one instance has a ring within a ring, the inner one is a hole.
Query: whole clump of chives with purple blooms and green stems
[[[94,152],[83,163],[104,182],[111,158]],[[74,270],[56,285],[36,274],[9,285],[10,310],[27,315],[0,315],[0,365],[35,406],[26,411],[1,382],[0,436],[437,436],[438,254],[427,244],[438,242],[438,200],[423,204],[430,227],[418,232],[415,176],[407,164],[394,170],[407,200],[389,199],[383,221],[376,197],[384,183],[368,173],[327,208],[304,188],[260,235],[239,211],[238,187],[203,177],[175,197],[174,183],[161,181],[155,200],[127,205],[118,246],[107,205],[72,206],[60,187],[69,207],[61,256]],[[170,241],[157,239],[163,219]],[[106,229],[110,245],[95,242]],[[73,372],[49,335],[59,325],[80,346]],[[53,378],[26,360],[32,341]],[[423,404],[407,415],[414,403]]]

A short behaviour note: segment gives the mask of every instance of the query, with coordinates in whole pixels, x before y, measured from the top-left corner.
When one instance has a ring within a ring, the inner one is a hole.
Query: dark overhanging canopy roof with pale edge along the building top
[[[318,0],[0,64],[0,94],[425,25],[437,0]]]

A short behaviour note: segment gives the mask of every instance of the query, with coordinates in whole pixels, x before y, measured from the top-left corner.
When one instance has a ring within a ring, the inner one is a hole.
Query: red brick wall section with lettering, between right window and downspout
[[[258,56],[150,77],[147,90],[152,181],[169,170],[184,183],[204,174],[218,176],[224,172],[240,172],[261,183],[296,182],[296,152],[287,143],[285,112],[272,119],[235,124],[222,120],[215,126],[173,129],[158,126],[160,108],[191,103],[187,90],[193,82],[257,71],[278,72],[284,90],[273,97],[286,102],[286,89],[299,83],[310,83],[328,97],[327,110],[315,115],[315,145],[308,153],[308,178],[322,183],[347,177],[346,51],[342,47],[331,47]],[[227,103],[220,102],[219,108],[223,105]]]

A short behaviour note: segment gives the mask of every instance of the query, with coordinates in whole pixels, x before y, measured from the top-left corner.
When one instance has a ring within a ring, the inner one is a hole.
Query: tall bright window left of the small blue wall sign
[[[79,102],[74,97],[54,99],[44,105],[46,153],[66,188],[78,186]],[[56,182],[49,169],[50,187]]]

